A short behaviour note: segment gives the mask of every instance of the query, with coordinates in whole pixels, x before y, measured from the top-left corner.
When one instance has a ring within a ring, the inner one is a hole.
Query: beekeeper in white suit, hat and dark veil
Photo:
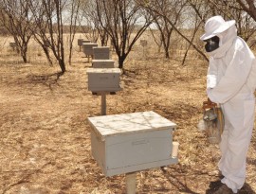
[[[256,61],[246,42],[237,36],[235,21],[211,17],[205,24],[210,55],[207,94],[222,107],[225,127],[218,168],[224,178],[215,192],[237,193],[246,181],[246,158],[254,123]]]

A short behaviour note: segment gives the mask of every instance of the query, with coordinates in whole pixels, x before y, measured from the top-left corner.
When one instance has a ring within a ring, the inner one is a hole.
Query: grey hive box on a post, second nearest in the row
[[[120,87],[119,68],[88,68],[88,90],[92,92],[117,92]]]

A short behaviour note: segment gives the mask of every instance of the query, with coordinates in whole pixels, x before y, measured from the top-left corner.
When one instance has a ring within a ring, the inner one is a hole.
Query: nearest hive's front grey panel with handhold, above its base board
[[[107,168],[120,168],[169,158],[172,132],[164,130],[110,136],[106,142]]]

